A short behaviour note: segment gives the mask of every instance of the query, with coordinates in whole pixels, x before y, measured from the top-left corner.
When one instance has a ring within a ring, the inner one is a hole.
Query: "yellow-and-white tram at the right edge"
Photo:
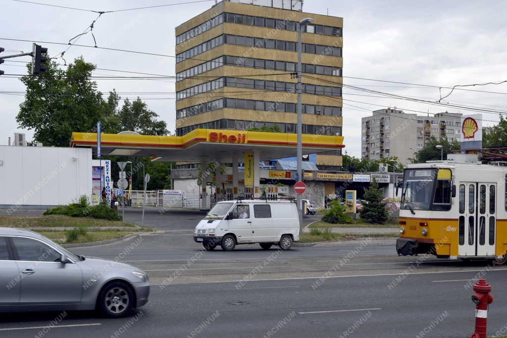
[[[404,172],[400,255],[491,258],[507,251],[507,167],[428,161]]]

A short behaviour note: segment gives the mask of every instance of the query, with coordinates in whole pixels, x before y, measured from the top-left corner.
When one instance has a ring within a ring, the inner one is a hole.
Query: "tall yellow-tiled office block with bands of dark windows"
[[[295,23],[304,18],[313,22],[302,33],[303,133],[341,135],[343,19],[228,1],[176,27],[177,134],[197,128],[259,128],[264,124],[294,133]],[[214,45],[218,39],[220,44]],[[222,63],[210,67],[207,61],[212,60]],[[207,84],[217,79],[217,88]],[[276,87],[268,86],[271,82]],[[321,154],[316,160],[317,165],[325,166],[323,170],[336,170],[342,163],[341,152]]]

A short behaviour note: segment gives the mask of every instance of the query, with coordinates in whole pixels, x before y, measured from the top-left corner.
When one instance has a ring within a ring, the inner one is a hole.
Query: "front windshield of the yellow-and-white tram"
[[[406,169],[401,209],[429,210],[436,176],[436,169]]]

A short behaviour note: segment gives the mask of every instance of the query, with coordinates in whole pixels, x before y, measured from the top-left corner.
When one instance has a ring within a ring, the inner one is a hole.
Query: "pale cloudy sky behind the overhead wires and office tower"
[[[186,2],[187,0],[40,0],[46,4],[108,11],[142,6]],[[95,23],[94,35],[101,47],[128,49],[174,55],[174,27],[210,8],[214,1],[156,9],[144,9],[103,14]],[[66,43],[81,33],[97,14],[63,8],[0,0],[2,32],[0,37],[29,41]],[[398,81],[413,84],[453,86],[507,80],[507,2],[446,0],[425,2],[371,0],[324,1],[306,0],[305,12],[344,18],[344,67],[346,77]],[[90,34],[80,44],[93,45]],[[42,44],[55,56],[67,46]],[[31,43],[0,40],[14,54],[30,51]],[[98,68],[131,70],[174,75],[174,58],[137,55],[93,48],[71,47],[65,54],[67,62],[83,56]],[[16,60],[29,60],[29,57]],[[59,60],[63,63],[63,60]],[[17,62],[0,65],[6,73],[24,73]],[[96,70],[97,76],[119,76],[124,73]],[[113,88],[120,93],[174,92],[173,80],[99,80],[99,90],[107,93]],[[344,78],[344,83],[388,93],[436,101],[438,88],[372,82]],[[468,88],[498,93],[456,90],[445,101],[453,104],[507,110],[507,84]],[[0,77],[0,92],[23,91],[23,84],[14,78]],[[448,93],[442,89],[443,95]],[[360,94],[360,95],[357,95]],[[123,98],[135,94],[120,94]],[[381,107],[413,109],[436,113],[454,108],[415,103],[405,100],[378,98],[351,89],[344,89],[344,127],[346,149],[360,156],[360,119],[369,111]],[[139,94],[149,107],[174,130],[174,94]],[[153,99],[153,98],[170,99]],[[0,94],[0,144],[21,130],[16,115],[23,96]],[[356,102],[353,102],[356,101]],[[353,106],[352,106],[353,105]],[[407,111],[408,112],[408,111]],[[470,111],[461,110],[468,113]],[[485,125],[498,120],[498,114],[485,114]]]

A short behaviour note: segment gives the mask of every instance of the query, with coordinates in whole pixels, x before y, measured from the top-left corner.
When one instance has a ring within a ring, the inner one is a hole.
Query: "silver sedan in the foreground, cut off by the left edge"
[[[148,303],[149,294],[148,276],[137,268],[0,228],[0,312],[96,309],[115,318]]]

